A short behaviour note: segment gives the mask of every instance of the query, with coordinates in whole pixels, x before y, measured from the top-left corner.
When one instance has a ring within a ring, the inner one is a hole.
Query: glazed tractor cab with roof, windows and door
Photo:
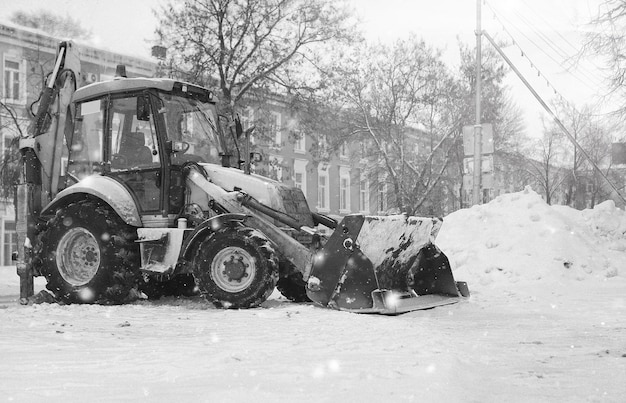
[[[74,94],[73,113],[65,186],[91,175],[113,178],[133,195],[144,224],[152,217],[162,225],[180,213],[185,163],[221,164],[227,154],[211,93],[191,84],[92,84]]]

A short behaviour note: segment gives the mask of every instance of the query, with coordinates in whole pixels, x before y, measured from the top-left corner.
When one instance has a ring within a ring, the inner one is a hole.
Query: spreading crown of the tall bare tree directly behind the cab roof
[[[158,12],[172,74],[217,86],[231,111],[246,96],[314,89],[318,47],[353,37],[343,1],[184,0]]]

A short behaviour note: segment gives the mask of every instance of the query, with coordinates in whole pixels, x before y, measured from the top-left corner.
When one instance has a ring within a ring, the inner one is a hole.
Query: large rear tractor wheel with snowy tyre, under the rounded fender
[[[35,256],[57,299],[123,303],[139,277],[135,229],[90,200],[57,210],[38,236]]]

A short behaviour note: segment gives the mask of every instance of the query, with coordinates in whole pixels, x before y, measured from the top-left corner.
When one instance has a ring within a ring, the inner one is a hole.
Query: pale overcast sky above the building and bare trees
[[[445,49],[451,65],[458,62],[457,38],[471,46],[475,43],[474,0],[351,2],[370,40],[388,42],[414,32],[432,46]],[[580,47],[585,24],[597,13],[600,2],[491,0],[482,5],[482,25],[496,39],[518,43],[507,47],[506,52],[546,100],[556,90],[570,102],[580,104],[590,102],[602,83],[593,66],[567,69],[565,59]],[[0,19],[7,20],[17,10],[47,9],[69,15],[91,29],[94,45],[149,59],[156,26],[153,9],[164,3],[165,0],[0,0]],[[483,46],[489,46],[484,39]],[[527,111],[529,130],[537,131],[538,103],[513,74],[507,83],[514,89],[518,104]]]

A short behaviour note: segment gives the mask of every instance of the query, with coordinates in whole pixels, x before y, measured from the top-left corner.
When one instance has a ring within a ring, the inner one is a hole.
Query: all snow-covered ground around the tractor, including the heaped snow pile
[[[437,244],[471,298],[396,317],[278,293],[20,306],[0,269],[0,401],[626,401],[624,211],[526,190],[446,217]]]

